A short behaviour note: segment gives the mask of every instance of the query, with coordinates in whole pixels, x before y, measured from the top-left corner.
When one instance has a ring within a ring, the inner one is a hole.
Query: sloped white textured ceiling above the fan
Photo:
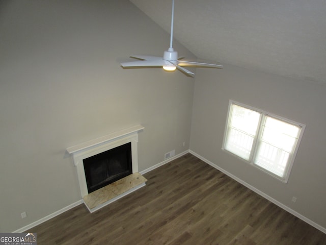
[[[130,2],[170,33],[172,0]],[[326,84],[326,0],[175,0],[173,36],[200,59]]]

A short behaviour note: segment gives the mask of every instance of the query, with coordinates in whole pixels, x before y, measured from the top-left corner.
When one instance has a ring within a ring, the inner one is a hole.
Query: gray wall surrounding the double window
[[[228,65],[197,69],[191,150],[326,228],[325,94],[323,85]],[[221,150],[230,99],[306,125],[287,184]]]

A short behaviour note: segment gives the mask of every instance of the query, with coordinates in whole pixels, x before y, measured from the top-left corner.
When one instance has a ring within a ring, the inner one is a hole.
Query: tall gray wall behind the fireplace
[[[169,43],[126,0],[0,2],[0,232],[80,200],[69,146],[141,124],[140,171],[189,148],[194,79],[119,64]]]

